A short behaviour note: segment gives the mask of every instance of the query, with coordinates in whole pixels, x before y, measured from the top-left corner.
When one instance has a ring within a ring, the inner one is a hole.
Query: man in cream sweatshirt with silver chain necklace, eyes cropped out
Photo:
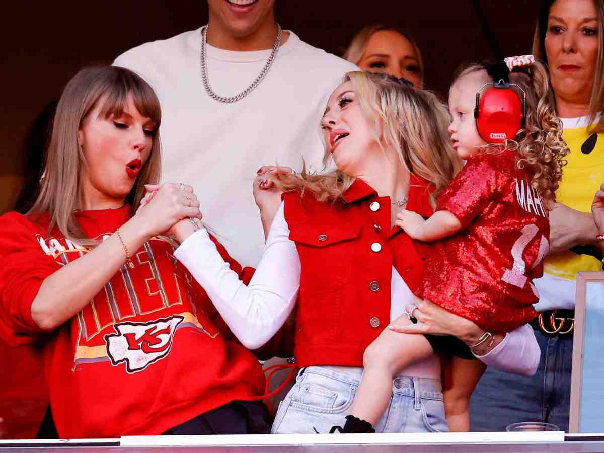
[[[145,43],[114,62],[158,94],[162,181],[194,187],[204,221],[244,266],[257,264],[264,243],[252,196],[257,170],[300,169],[303,159],[321,170],[321,114],[345,72],[358,70],[292,31],[278,33],[274,2],[208,0],[207,30]]]

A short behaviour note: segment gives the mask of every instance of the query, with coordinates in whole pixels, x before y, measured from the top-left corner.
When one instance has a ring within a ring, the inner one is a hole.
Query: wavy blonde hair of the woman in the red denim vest
[[[446,185],[461,169],[449,138],[449,111],[432,92],[413,88],[387,74],[348,72],[344,82],[353,90],[365,118],[373,124],[376,140],[382,147],[393,146],[408,172],[431,182],[432,208]],[[326,152],[327,167],[331,155]],[[335,201],[355,181],[340,170],[318,174],[303,167],[298,175],[282,175],[275,185],[284,191],[309,190],[319,201]]]

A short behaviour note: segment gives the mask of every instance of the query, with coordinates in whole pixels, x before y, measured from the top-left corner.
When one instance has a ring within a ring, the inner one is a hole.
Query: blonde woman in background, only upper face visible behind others
[[[342,58],[363,71],[404,77],[415,88],[423,87],[422,53],[413,37],[400,28],[367,25],[353,37]]]

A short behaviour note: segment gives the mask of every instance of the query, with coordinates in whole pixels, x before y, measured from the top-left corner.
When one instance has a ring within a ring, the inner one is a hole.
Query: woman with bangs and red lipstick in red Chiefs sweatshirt
[[[259,362],[161,236],[201,217],[191,187],[165,184],[133,215],[159,179],[160,121],[136,74],[83,69],[57,106],[35,204],[0,217],[0,336],[43,343],[60,437],[269,428]]]

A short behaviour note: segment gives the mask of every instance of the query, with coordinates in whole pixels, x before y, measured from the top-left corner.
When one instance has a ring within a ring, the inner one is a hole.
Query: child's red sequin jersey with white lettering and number
[[[418,296],[492,332],[508,332],[536,316],[550,235],[548,211],[513,151],[487,153],[440,194],[437,211],[454,214],[458,233],[427,243],[428,271]]]

